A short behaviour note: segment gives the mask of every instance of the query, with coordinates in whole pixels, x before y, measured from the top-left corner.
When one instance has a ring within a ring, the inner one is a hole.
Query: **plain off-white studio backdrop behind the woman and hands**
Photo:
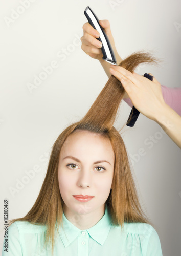
[[[180,87],[180,1],[1,1],[1,250],[4,199],[8,218],[24,217],[46,175],[58,135],[80,120],[108,78],[81,50],[84,10],[108,19],[122,58],[152,50],[160,66],[141,65],[167,87]],[[131,108],[122,102],[120,129]],[[154,121],[140,114],[122,137],[140,200],[159,234],[163,255],[180,255],[180,150]]]

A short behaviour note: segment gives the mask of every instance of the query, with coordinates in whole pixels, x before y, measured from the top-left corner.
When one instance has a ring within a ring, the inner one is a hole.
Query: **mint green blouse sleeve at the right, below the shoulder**
[[[162,248],[159,236],[155,229],[153,229],[148,240],[146,256],[162,256]]]

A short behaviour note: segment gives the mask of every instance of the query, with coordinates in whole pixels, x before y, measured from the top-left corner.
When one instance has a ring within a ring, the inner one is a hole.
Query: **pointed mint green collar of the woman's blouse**
[[[87,231],[92,239],[103,245],[108,236],[111,224],[111,215],[106,204],[105,212],[101,220],[96,225],[86,230],[81,230],[74,226],[63,214],[63,228],[59,228],[59,235],[65,247],[69,246],[83,231]]]

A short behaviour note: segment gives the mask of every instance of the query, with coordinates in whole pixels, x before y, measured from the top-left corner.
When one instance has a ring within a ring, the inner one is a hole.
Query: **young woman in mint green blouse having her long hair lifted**
[[[133,72],[149,54],[121,62]],[[116,114],[125,91],[111,76],[82,120],[55,141],[38,198],[8,228],[8,253],[19,255],[161,256],[157,232],[135,189]]]

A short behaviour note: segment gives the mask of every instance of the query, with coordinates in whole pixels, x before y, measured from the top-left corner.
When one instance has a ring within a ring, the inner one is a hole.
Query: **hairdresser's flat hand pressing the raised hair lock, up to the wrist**
[[[156,115],[166,104],[162,96],[161,84],[155,78],[150,81],[119,66],[111,65],[111,69],[111,74],[121,81],[135,108],[155,121]]]

